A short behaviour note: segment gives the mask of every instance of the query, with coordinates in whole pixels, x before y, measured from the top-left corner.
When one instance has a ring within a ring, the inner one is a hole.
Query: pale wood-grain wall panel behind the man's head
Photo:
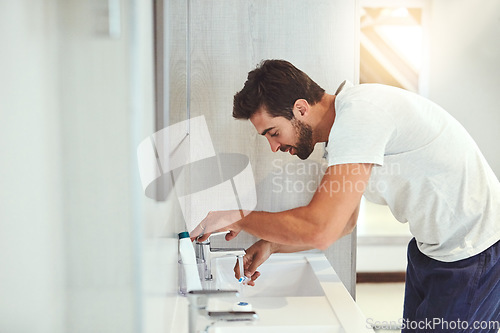
[[[250,158],[257,210],[307,204],[321,178],[323,148],[306,162],[272,153],[250,122],[232,118],[233,95],[263,59],[291,61],[330,93],[345,79],[356,82],[355,2],[176,0],[169,9],[170,119],[185,119],[188,110],[189,117],[204,115],[217,153]],[[214,244],[248,247],[254,241],[241,234],[232,244]],[[352,294],[354,247],[353,235],[326,251]]]

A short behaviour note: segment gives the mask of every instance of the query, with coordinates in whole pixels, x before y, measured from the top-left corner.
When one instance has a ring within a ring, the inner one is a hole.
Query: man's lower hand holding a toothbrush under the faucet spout
[[[257,280],[260,276],[260,272],[257,271],[257,268],[262,265],[273,253],[273,243],[265,240],[260,240],[247,249],[246,254],[243,257],[243,269],[245,270],[245,276],[250,278],[250,281],[248,282],[249,285],[255,286],[255,280]],[[236,279],[241,277],[238,261],[234,266],[234,276]]]

